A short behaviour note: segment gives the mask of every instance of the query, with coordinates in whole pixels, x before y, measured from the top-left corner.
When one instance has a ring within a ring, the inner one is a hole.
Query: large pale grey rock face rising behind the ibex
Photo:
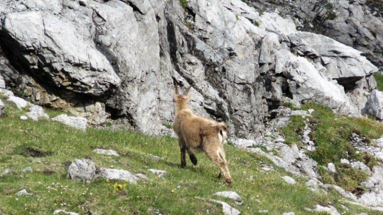
[[[360,51],[241,0],[3,0],[0,17],[10,86],[88,123],[123,118],[150,134],[173,121],[173,78],[193,85],[195,113],[252,138],[284,96],[360,114],[378,70]]]

